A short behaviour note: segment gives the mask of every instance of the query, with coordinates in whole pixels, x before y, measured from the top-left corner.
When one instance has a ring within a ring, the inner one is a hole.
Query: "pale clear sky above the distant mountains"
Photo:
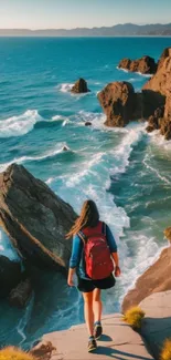
[[[171,22],[171,0],[0,0],[1,29]]]

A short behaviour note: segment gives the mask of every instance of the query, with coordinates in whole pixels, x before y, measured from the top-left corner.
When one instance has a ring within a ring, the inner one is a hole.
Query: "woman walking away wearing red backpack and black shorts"
[[[115,276],[120,276],[117,245],[109,227],[99,220],[93,200],[86,200],[66,238],[73,236],[70,260],[68,286],[74,286],[73,276],[78,278],[78,290],[84,298],[85,322],[89,335],[88,351],[97,348],[96,340],[103,333],[103,304],[100,290],[115,286]]]

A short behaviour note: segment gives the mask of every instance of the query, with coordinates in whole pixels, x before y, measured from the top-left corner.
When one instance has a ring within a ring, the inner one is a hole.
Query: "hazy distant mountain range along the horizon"
[[[171,23],[137,25],[133,23],[77,29],[0,29],[0,37],[171,37]]]

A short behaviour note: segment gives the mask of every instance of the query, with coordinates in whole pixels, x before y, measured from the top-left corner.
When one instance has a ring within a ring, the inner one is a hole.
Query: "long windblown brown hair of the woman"
[[[72,226],[71,230],[66,234],[66,239],[77,234],[84,227],[95,227],[99,222],[99,213],[96,204],[93,200],[86,200],[83,204],[81,215]]]

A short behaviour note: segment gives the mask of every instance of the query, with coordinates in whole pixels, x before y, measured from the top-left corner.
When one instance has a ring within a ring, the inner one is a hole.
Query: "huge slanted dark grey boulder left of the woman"
[[[76,214],[42,181],[12,164],[0,174],[0,225],[18,254],[30,264],[67,268]]]

